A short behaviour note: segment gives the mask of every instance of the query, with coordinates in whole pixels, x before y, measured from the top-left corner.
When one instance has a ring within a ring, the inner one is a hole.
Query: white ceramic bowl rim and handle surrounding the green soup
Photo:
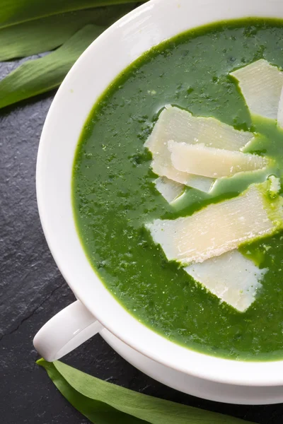
[[[259,363],[214,358],[178,346],[134,319],[88,263],[71,206],[71,171],[83,123],[115,76],[173,35],[219,20],[252,16],[283,18],[283,1],[151,0],[100,35],[59,88],[40,139],[37,201],[50,250],[79,300],[35,336],[35,347],[47,360],[71,351],[103,326],[142,355],[187,375],[246,386],[283,384],[283,360]]]

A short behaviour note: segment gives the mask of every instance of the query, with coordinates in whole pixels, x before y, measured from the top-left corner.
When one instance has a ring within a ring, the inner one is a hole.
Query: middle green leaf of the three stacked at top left
[[[47,52],[88,24],[111,25],[133,5],[108,6],[48,16],[0,28],[0,61]]]

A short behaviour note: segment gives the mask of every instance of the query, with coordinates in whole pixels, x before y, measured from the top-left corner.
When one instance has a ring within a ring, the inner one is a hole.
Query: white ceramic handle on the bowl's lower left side
[[[48,362],[73,351],[103,326],[79,301],[54,315],[35,335],[33,346]]]

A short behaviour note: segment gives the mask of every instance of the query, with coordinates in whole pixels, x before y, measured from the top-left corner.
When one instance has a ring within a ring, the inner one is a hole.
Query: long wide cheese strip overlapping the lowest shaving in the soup
[[[146,228],[169,261],[203,262],[283,228],[283,199],[269,201],[266,193],[266,182],[253,184],[240,196],[210,204],[192,216],[157,219]]]

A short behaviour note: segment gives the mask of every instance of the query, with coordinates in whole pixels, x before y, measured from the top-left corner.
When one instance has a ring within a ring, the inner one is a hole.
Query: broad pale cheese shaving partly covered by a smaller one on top
[[[196,177],[173,167],[168,141],[174,139],[178,142],[205,143],[216,148],[238,150],[252,141],[253,137],[251,133],[237,131],[233,126],[222,124],[214,118],[193,117],[190,112],[168,105],[161,112],[144,146],[153,155],[151,167],[157,175],[209,192],[214,179]]]

